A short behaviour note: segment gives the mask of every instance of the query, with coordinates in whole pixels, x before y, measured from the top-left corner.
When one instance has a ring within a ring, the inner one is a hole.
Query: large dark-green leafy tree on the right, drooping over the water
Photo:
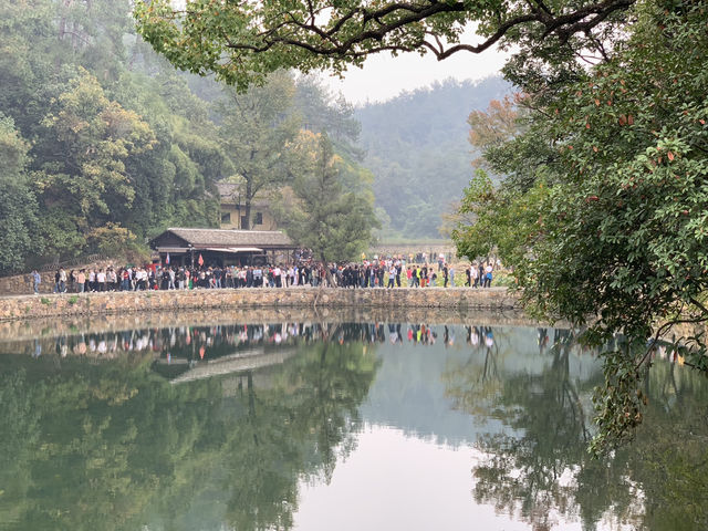
[[[462,204],[477,221],[456,233],[461,253],[498,246],[539,315],[586,326],[595,345],[623,334],[634,346],[606,356],[597,451],[641,420],[648,350],[637,346],[658,324],[708,321],[707,9],[637,4],[631,31],[594,66],[549,58],[563,83],[534,85],[538,64],[509,65],[528,83],[524,114],[487,163],[511,178],[498,190],[471,186]],[[520,160],[520,146],[544,155]],[[689,343],[687,363],[705,366],[705,341]]]

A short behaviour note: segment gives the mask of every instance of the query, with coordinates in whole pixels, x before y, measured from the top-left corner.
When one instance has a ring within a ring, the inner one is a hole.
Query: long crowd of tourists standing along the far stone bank
[[[442,288],[466,285],[491,287],[499,262],[475,261],[458,267],[456,271],[442,260],[437,264],[409,263],[400,258],[362,260],[357,263],[324,264],[303,261],[274,266],[212,266],[173,267],[150,264],[146,267],[90,268],[54,274],[54,293],[84,293],[102,291],[233,289],[233,288],[290,288],[296,285],[339,288]],[[464,272],[464,280],[461,277]],[[39,293],[41,275],[32,272],[34,293]],[[457,282],[457,283],[456,283]]]

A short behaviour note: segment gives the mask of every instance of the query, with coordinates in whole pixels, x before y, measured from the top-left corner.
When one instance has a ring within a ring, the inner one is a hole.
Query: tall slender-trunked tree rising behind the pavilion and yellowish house
[[[251,205],[258,194],[290,179],[288,145],[300,125],[293,113],[294,94],[292,76],[281,71],[262,87],[244,93],[228,88],[217,105],[222,119],[219,134],[236,171],[232,180],[241,185],[243,229],[251,227]]]

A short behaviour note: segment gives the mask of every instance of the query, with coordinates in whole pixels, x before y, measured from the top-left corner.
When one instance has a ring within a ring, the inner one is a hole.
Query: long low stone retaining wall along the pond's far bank
[[[514,310],[504,288],[241,289],[41,294],[0,298],[0,321],[244,308]]]

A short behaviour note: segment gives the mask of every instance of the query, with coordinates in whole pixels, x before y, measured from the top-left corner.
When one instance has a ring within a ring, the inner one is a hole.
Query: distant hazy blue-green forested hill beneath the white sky
[[[384,235],[437,237],[440,215],[471,177],[467,117],[510,92],[501,77],[446,81],[360,107],[365,166],[375,175]]]

